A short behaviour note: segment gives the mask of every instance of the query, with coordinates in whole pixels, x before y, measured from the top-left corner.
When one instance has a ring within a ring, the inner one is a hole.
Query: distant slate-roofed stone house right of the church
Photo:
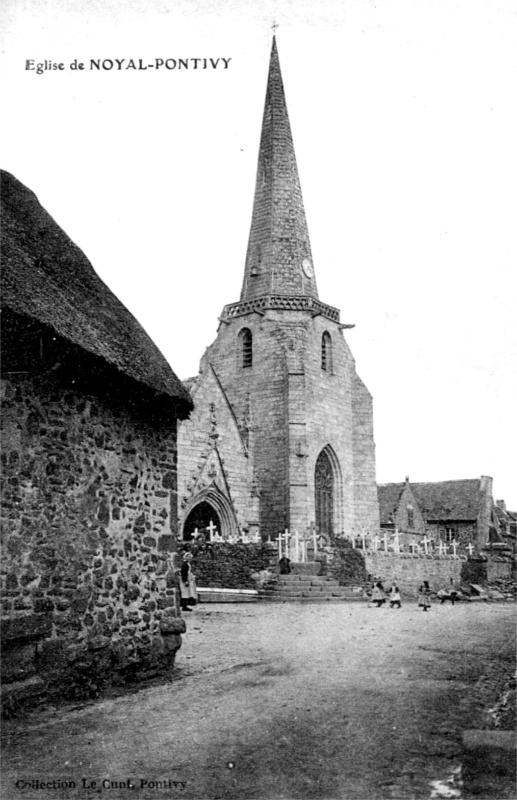
[[[397,529],[406,549],[422,546],[426,537],[433,547],[442,542],[448,552],[481,553],[502,542],[492,498],[492,478],[435,483],[385,483],[377,487],[381,529]],[[445,551],[444,551],[445,552]]]

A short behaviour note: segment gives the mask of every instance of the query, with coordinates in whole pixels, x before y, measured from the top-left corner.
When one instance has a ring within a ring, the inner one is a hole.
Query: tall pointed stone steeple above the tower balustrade
[[[271,295],[318,298],[274,37],[241,302]]]

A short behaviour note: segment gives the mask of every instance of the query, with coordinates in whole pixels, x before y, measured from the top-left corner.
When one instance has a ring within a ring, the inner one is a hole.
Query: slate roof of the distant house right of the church
[[[377,486],[381,525],[393,521],[404,483]],[[437,483],[410,483],[411,491],[426,522],[477,520],[480,509],[479,478]]]

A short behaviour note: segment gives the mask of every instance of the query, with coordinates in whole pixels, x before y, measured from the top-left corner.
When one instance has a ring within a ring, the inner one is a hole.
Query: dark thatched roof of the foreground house
[[[2,306],[51,328],[162,399],[172,399],[185,418],[192,409],[186,388],[36,195],[0,171],[0,197]]]

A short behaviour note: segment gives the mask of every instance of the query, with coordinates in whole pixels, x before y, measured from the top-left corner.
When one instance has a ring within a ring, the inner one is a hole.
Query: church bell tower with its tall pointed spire
[[[371,396],[339,316],[318,297],[273,38],[241,296],[204,357],[239,425],[251,409],[263,538],[378,527]]]

